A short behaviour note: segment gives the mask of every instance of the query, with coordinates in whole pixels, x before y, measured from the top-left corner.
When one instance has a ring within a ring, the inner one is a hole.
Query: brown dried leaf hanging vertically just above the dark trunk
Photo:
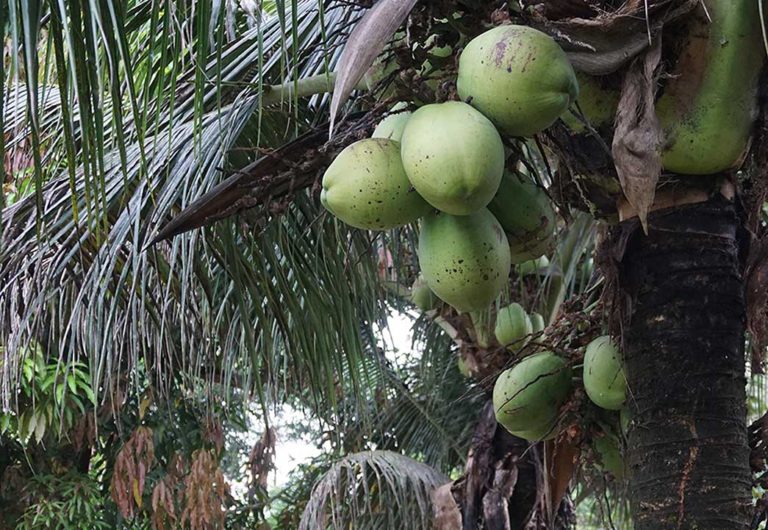
[[[646,232],[648,212],[662,167],[663,133],[654,107],[660,59],[661,39],[658,38],[653,47],[635,59],[627,70],[616,111],[612,146],[621,188],[627,201],[637,210]]]

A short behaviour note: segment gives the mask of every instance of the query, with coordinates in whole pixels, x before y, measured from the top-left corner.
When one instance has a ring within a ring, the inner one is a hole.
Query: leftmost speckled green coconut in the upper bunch
[[[400,144],[368,138],[347,146],[323,175],[320,201],[356,228],[386,230],[411,223],[432,208],[411,184],[400,161]]]

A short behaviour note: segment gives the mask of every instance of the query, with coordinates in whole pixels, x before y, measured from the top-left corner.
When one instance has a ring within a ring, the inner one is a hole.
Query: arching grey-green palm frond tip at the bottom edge
[[[350,454],[320,479],[300,530],[430,528],[431,492],[448,482],[433,468],[390,451]]]

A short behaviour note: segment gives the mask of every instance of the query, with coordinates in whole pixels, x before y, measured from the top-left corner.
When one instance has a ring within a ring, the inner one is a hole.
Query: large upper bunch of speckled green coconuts
[[[507,160],[503,139],[552,125],[578,83],[551,37],[504,25],[466,45],[456,87],[462,101],[413,112],[396,106],[371,138],[339,153],[323,176],[321,201],[366,230],[418,220],[414,301],[432,308],[434,295],[464,313],[488,309],[512,264],[552,246],[556,220],[547,194],[515,169],[517,160]]]

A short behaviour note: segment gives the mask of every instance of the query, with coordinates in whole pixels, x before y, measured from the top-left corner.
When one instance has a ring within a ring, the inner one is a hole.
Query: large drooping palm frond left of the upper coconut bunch
[[[224,35],[209,8],[136,2],[127,18],[109,14],[122,20],[112,28],[116,41],[99,41],[97,49],[106,53],[123,43],[146,51],[110,70],[106,86],[141,88],[100,99],[112,97],[111,115],[81,119],[79,129],[63,135],[69,135],[68,147],[61,148],[67,154],[60,157],[66,169],[41,183],[35,196],[3,211],[4,406],[14,395],[19,352],[33,340],[62,360],[87,359],[102,397],[125,384],[117,374],[130,374],[142,359],[160,386],[181,373],[190,381],[241,385],[262,397],[309,385],[316,399],[333,401],[331,374],[364,356],[350,323],[373,323],[384,315],[375,265],[363,259],[370,241],[323,216],[309,195],[256,226],[226,222],[142,250],[152,227],[211,189],[222,168],[244,165],[256,147],[283,143],[324,112],[324,100],[287,101],[290,115],[264,108],[261,89],[332,66],[358,16],[338,2],[282,5],[209,49],[211,38]],[[69,9],[71,18],[76,8]],[[174,9],[189,9],[209,24],[178,27]],[[48,38],[58,35],[62,42],[74,31],[65,24],[46,29]],[[147,43],[149,48],[140,47]],[[95,53],[65,52],[56,60],[70,77]],[[8,86],[34,103],[35,85]],[[67,78],[58,91],[69,106],[62,104],[53,119],[72,125],[86,105],[93,111],[94,102],[81,97],[87,87]],[[39,111],[33,103],[24,112]],[[122,118],[115,110],[120,105],[129,109]],[[3,109],[6,123],[23,122],[14,113],[19,107]],[[33,129],[18,138],[34,135]],[[95,129],[100,137],[88,147],[85,138]],[[53,152],[51,147],[48,155]]]

